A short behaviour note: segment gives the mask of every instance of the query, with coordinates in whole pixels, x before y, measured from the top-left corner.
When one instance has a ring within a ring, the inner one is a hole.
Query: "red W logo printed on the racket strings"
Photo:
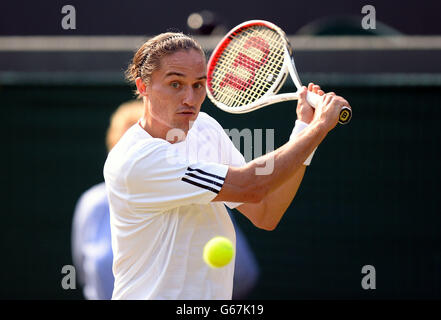
[[[256,70],[259,69],[267,61],[269,53],[269,44],[260,37],[248,38],[243,46],[243,49],[249,50],[250,48],[255,48],[262,52],[262,57],[259,61],[251,58],[250,56],[239,52],[236,59],[234,59],[233,67],[236,69],[238,67],[243,67],[249,72],[248,79],[244,80],[239,77],[235,72],[228,72],[225,74],[224,79],[220,82],[219,86],[221,88],[225,86],[231,86],[236,90],[246,90],[254,84],[254,77],[256,76]]]

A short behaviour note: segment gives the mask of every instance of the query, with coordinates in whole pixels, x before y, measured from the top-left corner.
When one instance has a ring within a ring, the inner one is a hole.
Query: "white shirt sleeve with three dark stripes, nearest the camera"
[[[208,204],[221,190],[228,166],[189,163],[175,144],[144,150],[127,175],[129,205],[136,212]]]

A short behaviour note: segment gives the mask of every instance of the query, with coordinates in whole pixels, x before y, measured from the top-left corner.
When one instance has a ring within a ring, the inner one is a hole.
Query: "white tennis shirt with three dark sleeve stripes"
[[[224,203],[211,200],[228,166],[244,164],[220,124],[203,112],[179,143],[153,138],[139,123],[124,134],[104,165],[112,299],[231,299],[234,260],[212,269],[202,251],[218,235],[235,245]]]

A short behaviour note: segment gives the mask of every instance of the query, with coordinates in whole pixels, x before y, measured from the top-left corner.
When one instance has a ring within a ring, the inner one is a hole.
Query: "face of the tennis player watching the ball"
[[[187,134],[205,99],[206,63],[194,49],[162,57],[160,68],[146,87],[147,119],[155,131],[167,135],[170,129]]]

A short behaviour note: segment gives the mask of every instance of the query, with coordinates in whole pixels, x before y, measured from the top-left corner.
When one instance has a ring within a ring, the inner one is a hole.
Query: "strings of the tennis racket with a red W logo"
[[[284,61],[284,42],[274,30],[253,26],[230,37],[212,73],[214,98],[231,107],[262,97],[279,76]]]

